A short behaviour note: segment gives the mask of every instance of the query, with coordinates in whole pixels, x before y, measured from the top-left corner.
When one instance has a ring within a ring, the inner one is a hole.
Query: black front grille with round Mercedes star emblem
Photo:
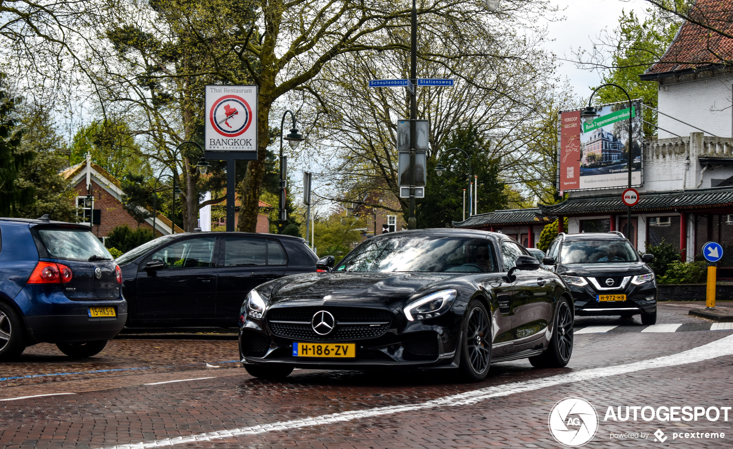
[[[336,325],[328,335],[317,334],[311,325],[315,313],[327,311]],[[392,313],[380,308],[356,307],[284,307],[268,311],[268,326],[273,334],[284,338],[337,341],[375,338],[386,333]]]

